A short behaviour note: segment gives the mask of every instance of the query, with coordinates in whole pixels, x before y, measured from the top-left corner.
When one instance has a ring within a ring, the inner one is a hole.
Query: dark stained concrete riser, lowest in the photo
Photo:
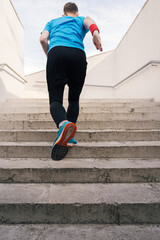
[[[160,204],[0,204],[1,224],[159,224]]]

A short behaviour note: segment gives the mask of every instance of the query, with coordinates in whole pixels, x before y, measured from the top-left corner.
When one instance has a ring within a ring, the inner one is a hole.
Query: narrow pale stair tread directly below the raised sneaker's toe
[[[102,168],[102,169],[127,169],[127,168],[160,168],[160,158],[142,159],[64,159],[63,161],[52,161],[44,158],[0,158],[0,169],[63,169],[63,168]]]

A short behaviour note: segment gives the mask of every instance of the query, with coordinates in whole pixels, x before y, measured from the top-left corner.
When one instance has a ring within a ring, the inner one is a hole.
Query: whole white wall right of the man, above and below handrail
[[[160,0],[146,1],[115,50],[87,59],[86,86],[81,97],[160,100],[160,65],[146,68],[116,88],[107,87],[119,83],[147,62],[160,60],[159,23]],[[46,81],[45,74],[42,74],[42,78],[38,73],[37,76]]]

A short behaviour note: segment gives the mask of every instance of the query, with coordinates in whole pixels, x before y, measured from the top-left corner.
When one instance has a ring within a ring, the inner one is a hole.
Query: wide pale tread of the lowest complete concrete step
[[[152,204],[159,199],[160,183],[0,183],[0,204]]]

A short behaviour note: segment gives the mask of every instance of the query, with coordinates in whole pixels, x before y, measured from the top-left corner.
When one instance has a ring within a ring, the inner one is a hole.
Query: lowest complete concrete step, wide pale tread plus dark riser
[[[159,212],[160,183],[0,184],[1,224],[159,224]]]

